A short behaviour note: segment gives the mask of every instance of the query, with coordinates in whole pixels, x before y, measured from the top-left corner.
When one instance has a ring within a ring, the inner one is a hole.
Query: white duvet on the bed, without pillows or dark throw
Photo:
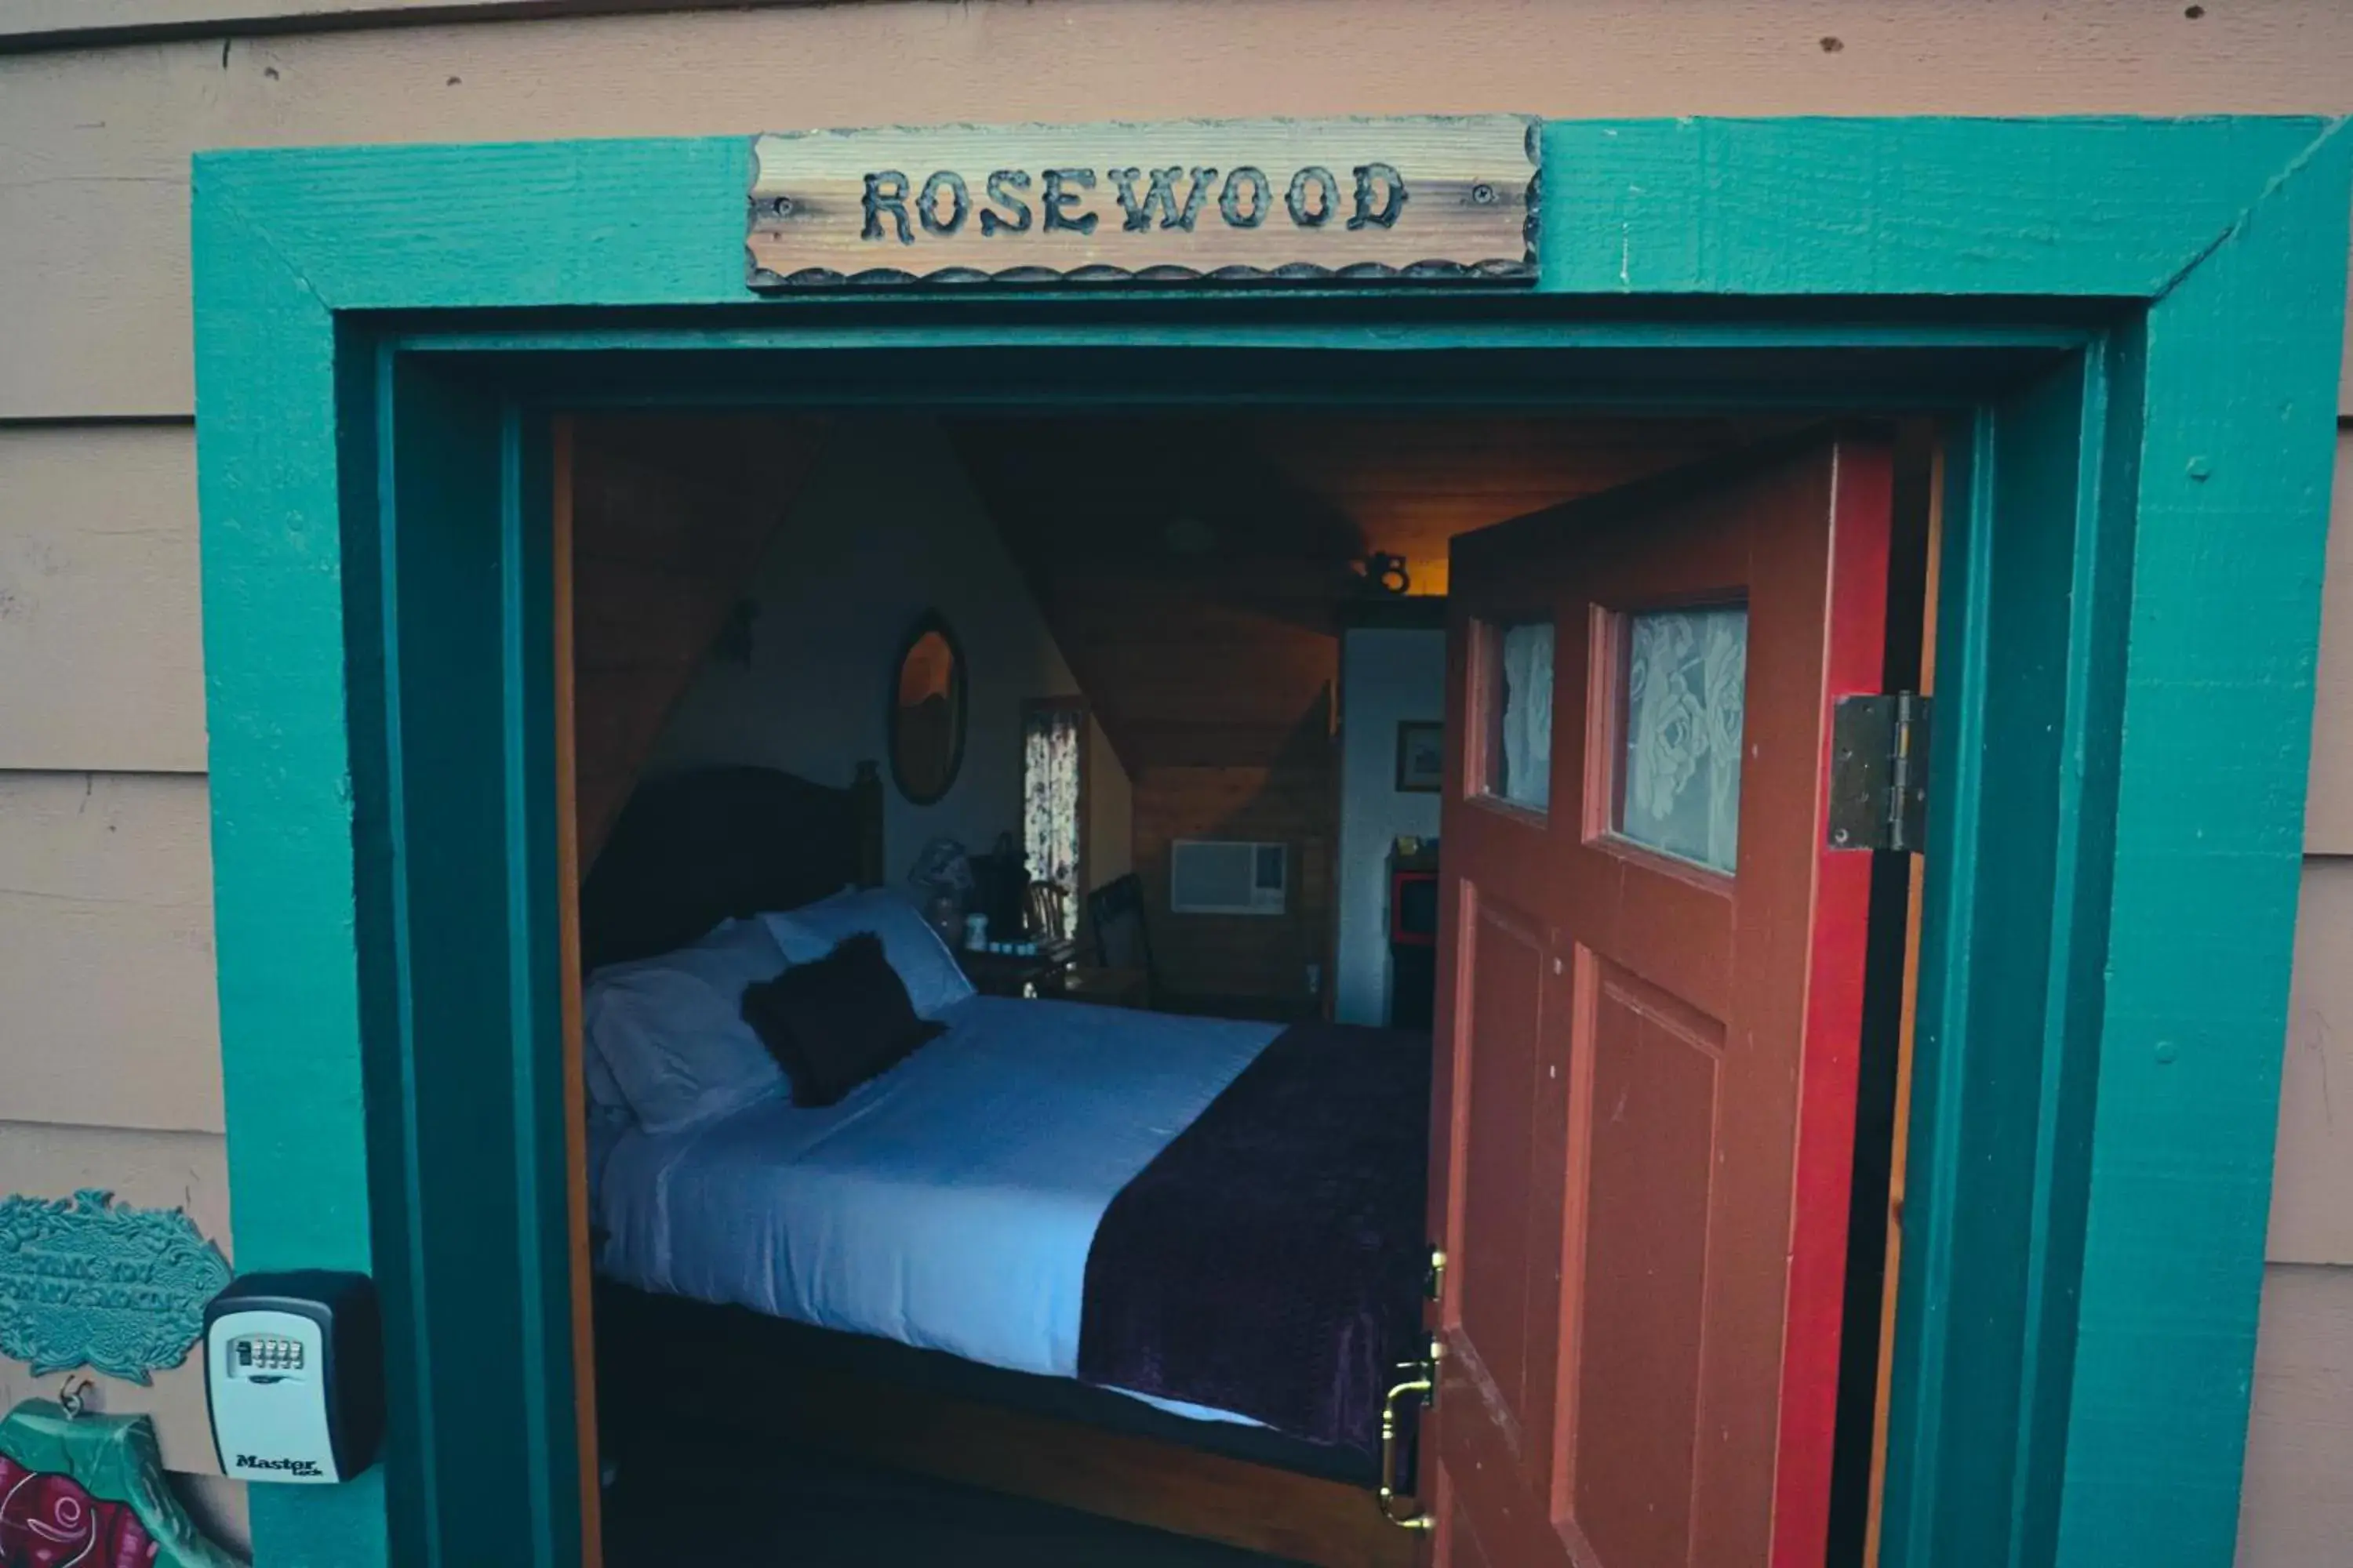
[[[600,1272],[1075,1378],[1104,1208],[1280,1027],[1009,997],[941,1020],[946,1034],[840,1105],[772,1098],[609,1135],[593,1173]]]

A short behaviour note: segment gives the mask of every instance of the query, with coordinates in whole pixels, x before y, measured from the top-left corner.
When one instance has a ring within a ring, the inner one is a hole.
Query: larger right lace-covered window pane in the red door
[[[1626,616],[1624,837],[1720,872],[1734,867],[1746,696],[1746,604]]]

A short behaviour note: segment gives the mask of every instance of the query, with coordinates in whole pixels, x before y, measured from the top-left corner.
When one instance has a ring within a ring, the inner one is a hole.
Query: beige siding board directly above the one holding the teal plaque
[[[221,1131],[202,776],[0,773],[0,1105]]]

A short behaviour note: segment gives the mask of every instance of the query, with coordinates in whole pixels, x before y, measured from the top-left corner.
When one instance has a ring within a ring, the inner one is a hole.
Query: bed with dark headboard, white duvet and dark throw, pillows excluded
[[[581,896],[586,961],[871,882],[864,785],[640,788]],[[936,1018],[824,1110],[593,1114],[607,1399],[715,1361],[774,1389],[854,1368],[1372,1486],[1419,1333],[1428,1041],[976,994]]]

